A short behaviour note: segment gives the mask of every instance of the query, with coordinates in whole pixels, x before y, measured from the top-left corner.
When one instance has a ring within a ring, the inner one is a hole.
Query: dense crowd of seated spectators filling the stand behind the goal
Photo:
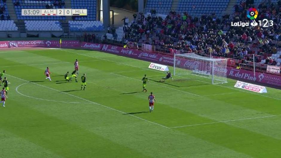
[[[246,17],[249,7],[256,7],[261,19],[273,20],[272,27],[237,27],[232,22],[251,22]],[[124,40],[145,42],[159,47],[171,48],[182,53],[196,52],[200,55],[242,58],[251,48],[259,48],[265,53],[276,53],[281,47],[281,0],[271,3],[265,0],[253,6],[252,0],[241,1],[234,6],[233,15],[217,18],[215,14],[191,17],[187,12],[171,11],[166,18],[145,17],[143,13],[134,15],[130,26],[124,26]],[[143,40],[143,41],[142,41]]]

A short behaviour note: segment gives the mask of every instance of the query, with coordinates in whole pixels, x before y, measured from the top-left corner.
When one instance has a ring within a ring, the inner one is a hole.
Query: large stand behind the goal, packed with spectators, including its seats
[[[146,5],[146,12],[152,15],[138,14],[132,24],[107,33],[108,39],[151,44],[166,53],[170,50],[196,52],[202,56],[211,53],[212,56],[233,58],[250,65],[253,64],[253,54],[255,62],[260,64],[279,66],[281,63],[281,0],[238,0],[233,12],[225,15],[229,0],[180,0],[178,10],[170,11],[167,16],[153,13],[154,9],[161,10],[155,3],[151,0]],[[193,7],[196,12],[193,12]],[[231,22],[249,22],[246,17],[249,7],[256,7],[259,18],[272,19],[274,25],[262,29],[231,26]]]

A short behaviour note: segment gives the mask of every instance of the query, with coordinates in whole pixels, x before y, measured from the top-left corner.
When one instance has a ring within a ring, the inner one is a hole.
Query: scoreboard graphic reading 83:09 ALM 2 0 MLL
[[[22,9],[22,16],[87,16],[87,9]]]

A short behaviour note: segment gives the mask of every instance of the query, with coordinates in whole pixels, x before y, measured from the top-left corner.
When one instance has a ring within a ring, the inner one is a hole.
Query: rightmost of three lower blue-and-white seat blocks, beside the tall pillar
[[[71,31],[102,31],[103,23],[100,21],[69,21]]]

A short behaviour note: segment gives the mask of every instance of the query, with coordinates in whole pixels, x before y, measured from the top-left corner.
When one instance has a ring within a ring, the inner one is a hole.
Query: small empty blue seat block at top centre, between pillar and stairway
[[[172,6],[172,0],[147,0],[145,12],[156,10],[158,14],[169,13]]]

